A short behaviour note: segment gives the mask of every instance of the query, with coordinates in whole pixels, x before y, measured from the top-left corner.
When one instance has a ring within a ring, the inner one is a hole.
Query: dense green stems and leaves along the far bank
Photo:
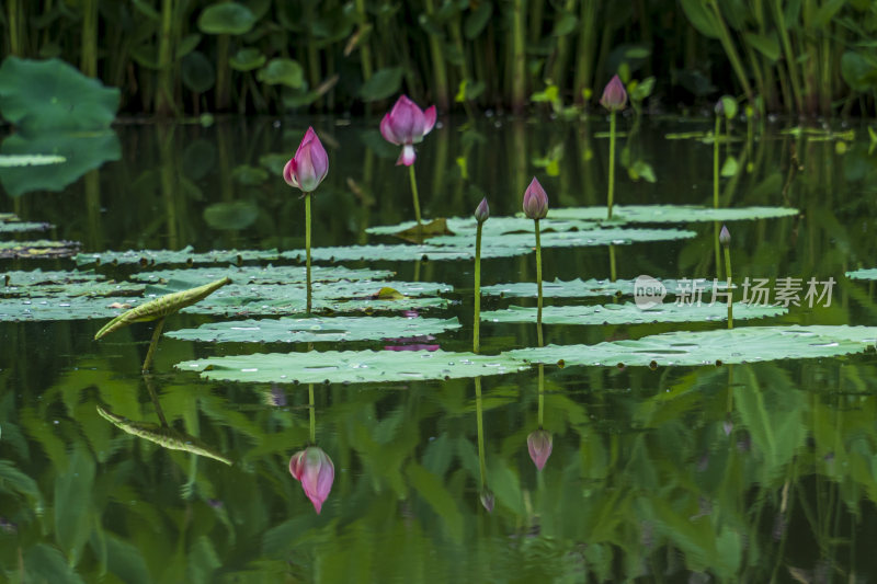
[[[60,57],[129,113],[354,113],[400,91],[443,112],[595,103],[875,113],[870,0],[5,0],[3,57]],[[384,104],[381,104],[381,107]],[[578,107],[566,110],[576,113]]]

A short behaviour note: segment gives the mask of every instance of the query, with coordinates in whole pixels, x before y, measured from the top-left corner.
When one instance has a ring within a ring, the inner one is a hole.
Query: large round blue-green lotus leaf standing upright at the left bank
[[[0,114],[26,134],[106,129],[119,95],[60,59],[7,57],[0,67]]]

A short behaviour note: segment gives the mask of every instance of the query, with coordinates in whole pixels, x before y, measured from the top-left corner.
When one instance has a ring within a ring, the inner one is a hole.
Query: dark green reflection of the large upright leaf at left
[[[86,172],[122,158],[122,147],[113,130],[13,134],[3,140],[0,152],[64,159],[42,167],[0,167],[0,184],[13,197],[33,191],[62,191]]]

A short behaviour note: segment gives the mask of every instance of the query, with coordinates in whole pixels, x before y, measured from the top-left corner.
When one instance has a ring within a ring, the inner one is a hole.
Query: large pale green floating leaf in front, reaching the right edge
[[[736,316],[736,314],[734,314]],[[862,353],[877,341],[877,327],[745,327],[670,332],[596,345],[548,345],[503,356],[526,363],[659,366],[755,363]]]

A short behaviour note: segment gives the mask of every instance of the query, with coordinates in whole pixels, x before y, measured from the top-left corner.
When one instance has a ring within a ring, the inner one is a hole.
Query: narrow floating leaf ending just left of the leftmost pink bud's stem
[[[280,256],[277,250],[224,250],[195,253],[194,248],[186,245],[179,251],[170,250],[129,250],[124,252],[105,251],[101,253],[80,253],[76,256],[76,264],[83,265],[123,265],[140,264],[172,265],[172,264],[239,264],[251,261],[272,261]]]

